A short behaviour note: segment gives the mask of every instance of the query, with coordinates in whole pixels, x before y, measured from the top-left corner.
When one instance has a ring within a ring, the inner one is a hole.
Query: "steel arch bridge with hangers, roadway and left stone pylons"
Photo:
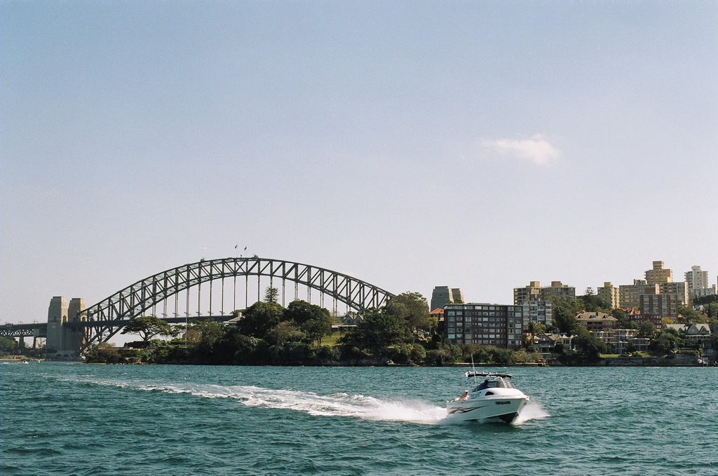
[[[0,335],[45,337],[49,356],[73,358],[146,314],[170,323],[228,321],[242,304],[246,308],[260,301],[267,287],[277,289],[283,306],[287,300],[303,299],[327,307],[328,299],[335,314],[340,305],[361,313],[383,306],[393,296],[347,274],[309,264],[258,256],[202,259],[136,281],[90,307],[79,298],[67,306],[64,298],[53,297],[47,323],[0,325]]]

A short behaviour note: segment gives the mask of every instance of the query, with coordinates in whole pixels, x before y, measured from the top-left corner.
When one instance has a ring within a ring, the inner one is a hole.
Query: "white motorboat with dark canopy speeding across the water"
[[[508,373],[467,372],[467,378],[477,383],[472,391],[464,391],[459,398],[447,401],[449,419],[466,421],[505,421],[516,420],[528,403],[528,396],[513,386]]]

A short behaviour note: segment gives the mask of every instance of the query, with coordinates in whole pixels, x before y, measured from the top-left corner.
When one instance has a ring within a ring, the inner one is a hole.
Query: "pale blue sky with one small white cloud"
[[[0,1],[0,322],[200,258],[718,276],[717,1]]]

